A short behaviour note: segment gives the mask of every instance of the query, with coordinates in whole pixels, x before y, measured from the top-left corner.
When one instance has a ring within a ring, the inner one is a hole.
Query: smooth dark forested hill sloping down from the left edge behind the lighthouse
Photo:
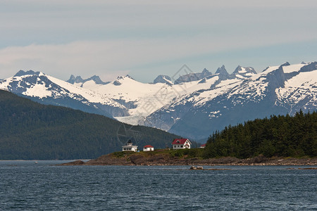
[[[44,106],[0,90],[0,160],[79,159],[121,151],[125,136],[139,148],[170,146],[179,138],[160,129],[130,125],[101,115],[58,106]],[[118,141],[117,134],[121,139]]]

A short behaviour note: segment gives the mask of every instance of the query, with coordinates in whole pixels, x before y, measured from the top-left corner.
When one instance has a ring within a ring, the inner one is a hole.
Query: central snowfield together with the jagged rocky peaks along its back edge
[[[145,124],[145,117],[163,106],[173,103],[175,98],[201,89],[210,89],[223,79],[227,79],[228,72],[224,66],[219,69],[221,71],[214,75],[206,69],[202,72],[182,75],[175,82],[172,82],[166,75],[159,75],[154,79],[154,84],[144,84],[126,75],[119,76],[107,84],[98,84],[90,79],[77,85],[96,91],[125,106],[128,109],[128,115],[114,115],[116,119],[129,124]],[[223,77],[223,71],[225,71],[225,77]],[[232,78],[237,77],[232,76]],[[70,79],[74,79],[74,77],[70,77]]]

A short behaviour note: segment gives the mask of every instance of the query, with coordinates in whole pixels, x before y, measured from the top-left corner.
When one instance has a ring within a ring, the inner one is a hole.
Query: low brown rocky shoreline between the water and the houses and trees
[[[76,160],[61,165],[317,165],[317,158],[266,158],[259,155],[248,159],[225,157],[201,160],[199,158],[171,157],[168,154],[141,155],[133,153],[118,157],[112,153],[87,162]]]

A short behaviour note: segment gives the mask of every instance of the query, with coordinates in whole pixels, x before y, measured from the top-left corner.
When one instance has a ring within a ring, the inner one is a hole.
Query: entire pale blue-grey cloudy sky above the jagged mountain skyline
[[[316,0],[1,0],[0,79],[211,72],[317,60]]]

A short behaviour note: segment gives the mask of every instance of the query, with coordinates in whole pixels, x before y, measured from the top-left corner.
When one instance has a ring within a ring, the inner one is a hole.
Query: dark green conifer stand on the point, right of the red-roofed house
[[[209,137],[205,157],[317,156],[317,113],[271,116],[225,127]]]

